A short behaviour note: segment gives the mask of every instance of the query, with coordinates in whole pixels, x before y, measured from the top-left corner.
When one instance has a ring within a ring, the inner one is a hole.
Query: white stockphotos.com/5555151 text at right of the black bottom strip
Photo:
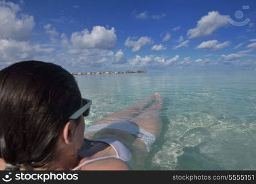
[[[254,181],[254,174],[227,174],[227,175],[173,175],[172,180],[218,180],[218,181],[231,181],[231,180],[251,180]]]

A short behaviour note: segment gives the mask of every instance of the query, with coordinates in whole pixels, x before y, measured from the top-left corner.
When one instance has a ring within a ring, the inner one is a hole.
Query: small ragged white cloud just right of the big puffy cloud
[[[150,37],[140,37],[137,41],[134,40],[134,37],[128,37],[126,39],[126,42],[124,45],[126,45],[127,47],[133,47],[132,48],[132,52],[137,52],[140,50],[140,48],[142,48],[145,45],[151,44],[153,43],[153,41],[151,40]]]

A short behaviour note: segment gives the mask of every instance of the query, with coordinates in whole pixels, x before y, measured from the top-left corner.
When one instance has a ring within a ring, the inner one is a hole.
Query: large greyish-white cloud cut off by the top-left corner
[[[19,12],[18,4],[0,1],[0,39],[30,39],[30,33],[35,25],[34,18]]]

